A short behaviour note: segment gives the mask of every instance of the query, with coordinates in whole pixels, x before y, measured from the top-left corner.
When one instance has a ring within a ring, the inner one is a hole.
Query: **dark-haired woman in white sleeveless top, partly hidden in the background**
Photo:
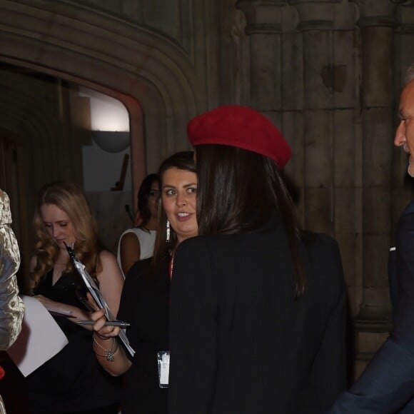
[[[117,261],[125,277],[136,261],[153,256],[158,222],[158,177],[149,174],[138,191],[136,227],[128,228],[119,238]]]

